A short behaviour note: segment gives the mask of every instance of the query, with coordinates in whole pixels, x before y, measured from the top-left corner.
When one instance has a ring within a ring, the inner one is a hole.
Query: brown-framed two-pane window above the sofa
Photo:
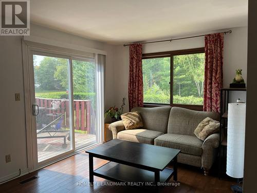
[[[145,106],[202,110],[204,48],[143,54],[142,59]]]

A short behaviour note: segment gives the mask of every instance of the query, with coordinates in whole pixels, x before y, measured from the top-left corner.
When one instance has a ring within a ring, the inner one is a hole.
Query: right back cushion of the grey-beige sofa
[[[219,120],[219,113],[173,107],[168,123],[168,133],[194,136],[195,128],[206,117]]]

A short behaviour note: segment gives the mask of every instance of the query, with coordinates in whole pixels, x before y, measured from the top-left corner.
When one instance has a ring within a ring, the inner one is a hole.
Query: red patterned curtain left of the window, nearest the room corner
[[[142,44],[130,45],[128,102],[130,111],[134,107],[143,107]]]

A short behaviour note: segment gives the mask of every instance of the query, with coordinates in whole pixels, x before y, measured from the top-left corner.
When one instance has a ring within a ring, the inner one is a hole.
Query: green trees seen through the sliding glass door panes
[[[42,90],[68,89],[69,60],[64,58],[44,57],[36,64],[33,56],[35,83]],[[72,60],[74,92],[95,92],[95,62]]]

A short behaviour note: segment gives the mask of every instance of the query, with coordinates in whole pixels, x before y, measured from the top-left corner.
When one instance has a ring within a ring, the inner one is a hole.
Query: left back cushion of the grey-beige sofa
[[[140,113],[144,129],[167,133],[171,107],[136,107],[133,108],[131,111],[138,111]]]

